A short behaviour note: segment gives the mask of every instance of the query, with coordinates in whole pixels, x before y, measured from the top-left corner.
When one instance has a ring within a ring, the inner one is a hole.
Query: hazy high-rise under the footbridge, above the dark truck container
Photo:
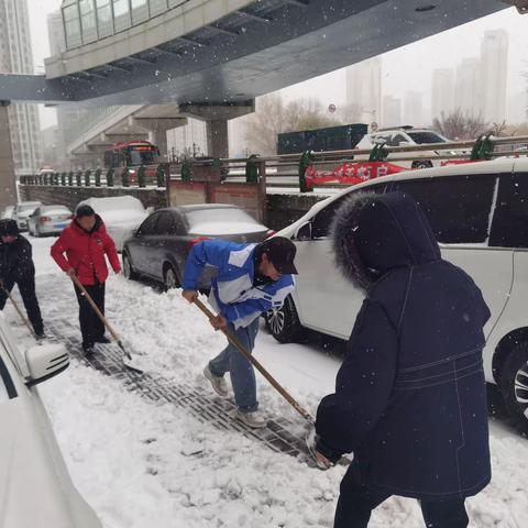
[[[381,57],[370,58],[346,68],[346,105],[359,109],[362,122],[372,123],[381,119]]]

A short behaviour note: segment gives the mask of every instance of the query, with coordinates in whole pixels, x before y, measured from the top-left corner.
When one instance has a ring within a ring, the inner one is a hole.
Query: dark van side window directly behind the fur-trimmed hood
[[[396,180],[421,207],[435,237],[444,244],[487,242],[496,176]]]

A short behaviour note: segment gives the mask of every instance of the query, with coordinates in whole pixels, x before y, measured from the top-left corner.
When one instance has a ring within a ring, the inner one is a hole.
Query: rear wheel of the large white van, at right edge
[[[512,349],[501,371],[499,387],[515,426],[528,432],[528,342]]]

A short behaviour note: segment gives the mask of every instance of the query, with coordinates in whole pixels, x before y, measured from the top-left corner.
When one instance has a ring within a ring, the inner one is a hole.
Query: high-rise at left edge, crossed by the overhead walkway
[[[28,0],[0,0],[0,72],[33,74]],[[40,122],[36,105],[11,105],[8,109],[16,175],[38,169]]]

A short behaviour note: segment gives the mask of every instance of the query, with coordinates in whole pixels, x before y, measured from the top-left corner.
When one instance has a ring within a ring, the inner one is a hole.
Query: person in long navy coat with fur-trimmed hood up
[[[319,462],[354,453],[334,527],[366,527],[392,495],[419,499],[430,528],[466,527],[465,497],[491,480],[481,290],[441,258],[425,215],[400,193],[342,206],[333,248],[366,290],[336,393],[317,411]]]

